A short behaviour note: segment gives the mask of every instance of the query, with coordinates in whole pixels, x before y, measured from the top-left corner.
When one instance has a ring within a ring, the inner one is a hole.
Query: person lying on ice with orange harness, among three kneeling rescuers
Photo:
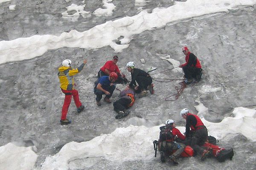
[[[113,103],[114,111],[118,113],[116,119],[129,115],[130,111],[127,109],[134,104],[134,95],[134,86],[126,86],[126,88],[119,93],[120,98]]]

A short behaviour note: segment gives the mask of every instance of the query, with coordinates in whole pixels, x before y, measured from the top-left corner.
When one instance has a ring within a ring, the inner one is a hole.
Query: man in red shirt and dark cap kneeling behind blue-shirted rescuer
[[[110,61],[107,61],[102,68],[100,68],[98,72],[98,78],[101,78],[102,76],[108,76],[111,72],[115,72],[118,75],[118,78],[116,79],[116,84],[126,84],[128,81],[125,78],[124,74],[121,74],[119,71],[118,66],[116,65],[118,61],[118,57],[115,55],[113,56],[113,59]]]

